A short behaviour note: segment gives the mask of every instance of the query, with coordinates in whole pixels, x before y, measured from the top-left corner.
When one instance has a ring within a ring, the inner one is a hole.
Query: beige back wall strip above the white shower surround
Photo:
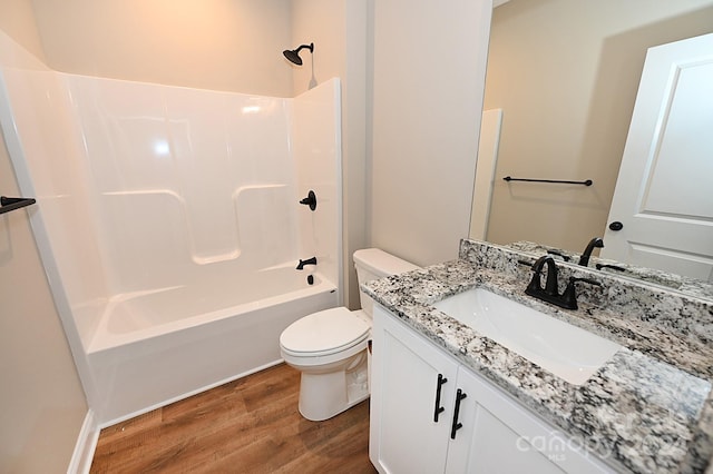
[[[48,66],[292,97],[291,0],[32,0]]]

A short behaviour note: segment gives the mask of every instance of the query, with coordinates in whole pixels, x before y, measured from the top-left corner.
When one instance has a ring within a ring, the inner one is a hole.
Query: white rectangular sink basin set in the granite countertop
[[[564,378],[582,385],[622,346],[482,288],[434,304],[437,309]]]

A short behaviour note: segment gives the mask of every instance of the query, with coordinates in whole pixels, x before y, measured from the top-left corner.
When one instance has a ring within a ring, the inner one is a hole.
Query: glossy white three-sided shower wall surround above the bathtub
[[[105,389],[86,356],[111,302],[312,256],[341,288],[338,79],[283,99],[0,66],[2,128],[90,405]],[[316,213],[299,205],[310,189]]]

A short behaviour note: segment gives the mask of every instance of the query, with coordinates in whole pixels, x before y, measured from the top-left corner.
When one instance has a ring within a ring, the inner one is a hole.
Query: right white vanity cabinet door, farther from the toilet
[[[509,395],[465,367],[458,372],[458,423],[448,447],[448,473],[604,473],[608,466]],[[452,437],[452,436],[451,436]]]

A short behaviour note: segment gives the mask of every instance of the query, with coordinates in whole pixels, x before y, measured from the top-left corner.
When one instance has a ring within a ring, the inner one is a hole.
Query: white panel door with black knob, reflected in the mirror
[[[604,240],[605,258],[713,280],[713,34],[648,50]]]

